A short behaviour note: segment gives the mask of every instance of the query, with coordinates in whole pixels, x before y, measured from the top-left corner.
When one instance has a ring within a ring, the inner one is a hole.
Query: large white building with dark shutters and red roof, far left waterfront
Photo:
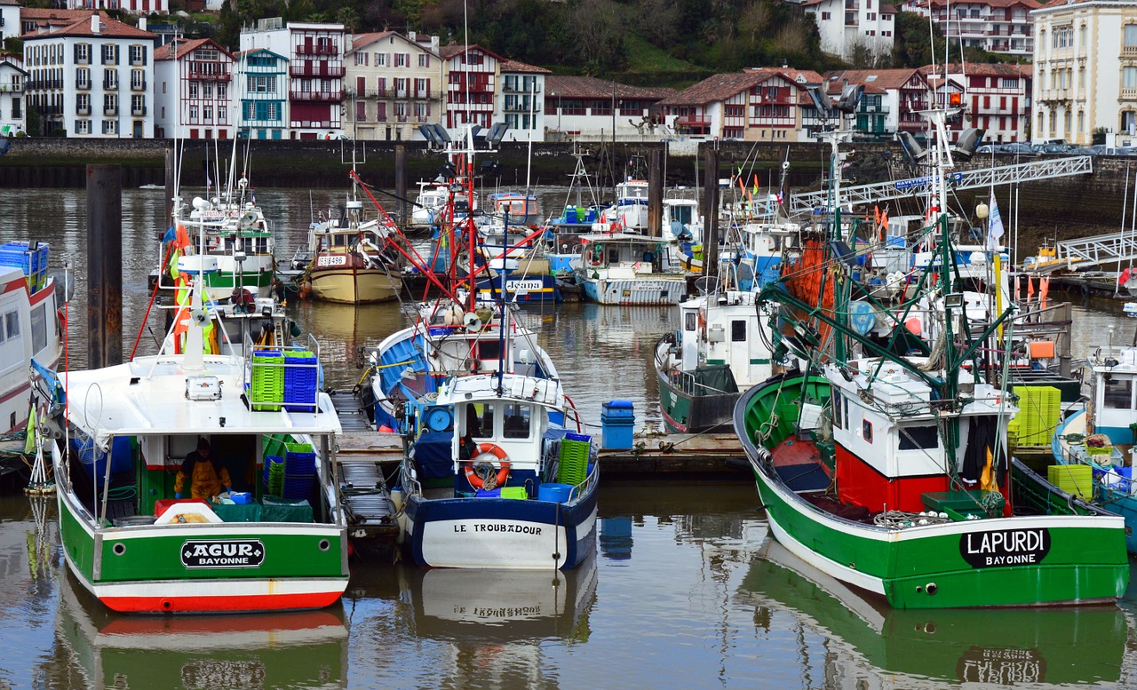
[[[90,15],[25,34],[26,105],[44,134],[149,139],[155,35]]]

